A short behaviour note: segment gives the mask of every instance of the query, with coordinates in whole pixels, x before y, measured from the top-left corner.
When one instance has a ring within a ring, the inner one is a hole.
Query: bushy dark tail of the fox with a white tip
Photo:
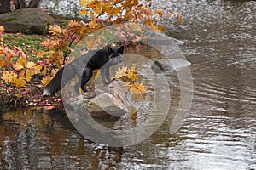
[[[53,79],[47,84],[47,86],[44,88],[43,95],[52,95],[55,92],[59,91],[61,89],[61,80],[62,80],[62,74],[64,71],[64,67],[62,67],[53,77]]]

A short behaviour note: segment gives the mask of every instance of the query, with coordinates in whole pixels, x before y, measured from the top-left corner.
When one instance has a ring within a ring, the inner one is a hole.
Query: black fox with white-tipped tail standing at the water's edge
[[[62,67],[44,88],[43,95],[52,95],[61,89],[61,85],[65,86],[74,76],[79,76],[79,82],[75,85],[75,92],[79,93],[79,87],[86,92],[84,87],[86,82],[90,80],[93,75],[93,71],[101,69],[102,82],[106,85],[108,82],[112,82],[109,76],[109,67],[117,65],[123,61],[124,46],[120,48],[105,47],[98,50],[90,51],[87,54],[80,56],[78,59],[73,60]],[[87,63],[87,64],[86,64]],[[86,64],[86,65],[85,65]],[[62,74],[65,69],[65,77]],[[108,82],[106,81],[108,80]],[[62,82],[62,84],[61,84]]]

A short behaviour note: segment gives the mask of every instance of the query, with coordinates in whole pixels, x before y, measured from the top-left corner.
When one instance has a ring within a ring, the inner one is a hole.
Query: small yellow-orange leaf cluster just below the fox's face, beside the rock
[[[131,94],[146,94],[147,90],[143,83],[135,82],[137,80],[136,64],[131,65],[130,68],[126,66],[119,67],[115,74],[116,79],[122,79],[125,85],[131,91]]]

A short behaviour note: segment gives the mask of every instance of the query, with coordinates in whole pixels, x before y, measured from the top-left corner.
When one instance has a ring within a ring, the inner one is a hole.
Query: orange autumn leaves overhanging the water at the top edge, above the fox
[[[93,26],[99,26],[99,19],[106,20],[113,23],[113,25],[126,21],[137,23],[140,20],[143,21],[144,25],[162,31],[165,26],[157,26],[154,20],[172,17],[166,3],[165,11],[159,8],[152,9],[151,0],[143,1],[143,3],[139,0],[80,0],[80,4],[84,6],[80,10],[80,14],[89,15],[91,18],[90,25]],[[104,24],[102,23],[102,25]]]

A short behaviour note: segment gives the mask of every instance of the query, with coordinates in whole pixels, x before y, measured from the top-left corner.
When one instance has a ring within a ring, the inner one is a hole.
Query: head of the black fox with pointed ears
[[[124,46],[120,48],[110,48],[108,47],[109,61],[110,65],[117,65],[124,60]]]

